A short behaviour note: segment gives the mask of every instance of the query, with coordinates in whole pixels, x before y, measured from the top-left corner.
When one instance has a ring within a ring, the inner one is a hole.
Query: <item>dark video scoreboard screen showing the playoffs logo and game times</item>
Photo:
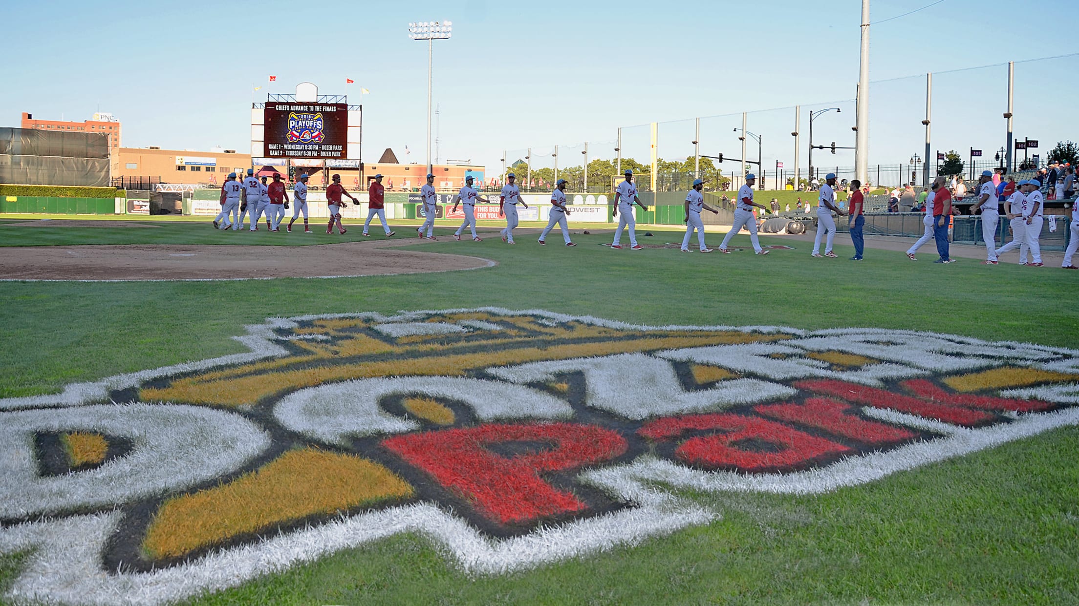
[[[346,104],[270,102],[262,120],[265,157],[349,157]]]

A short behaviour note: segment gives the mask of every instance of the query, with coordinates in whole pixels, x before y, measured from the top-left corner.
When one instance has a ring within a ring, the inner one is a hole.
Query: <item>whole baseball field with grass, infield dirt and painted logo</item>
[[[1079,603],[1076,272],[19,223],[5,604]]]

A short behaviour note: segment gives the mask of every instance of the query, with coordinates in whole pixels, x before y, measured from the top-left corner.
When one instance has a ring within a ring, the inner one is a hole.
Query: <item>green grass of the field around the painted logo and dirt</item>
[[[300,240],[303,234],[221,234],[188,222],[160,224],[0,226],[0,245],[308,244]],[[680,242],[682,235],[654,233],[642,244]],[[359,230],[346,236],[359,239]],[[709,234],[708,244],[718,246],[721,237]],[[811,246],[769,237],[762,244],[795,249],[766,257],[615,251],[600,246],[610,235],[574,238],[578,246],[572,249],[541,247],[523,234],[515,247],[497,237],[413,247],[497,262],[467,272],[3,283],[0,397],[238,353],[244,349],[231,336],[243,334],[244,325],[299,314],[494,305],[651,325],[878,327],[1079,343],[1079,277],[1073,272],[967,260],[909,263],[894,256],[853,263],[846,260],[852,253],[847,246],[836,246],[841,259],[810,259]],[[331,242],[325,234],[309,239]],[[749,247],[749,237],[736,237],[733,246]],[[395,536],[193,603],[1074,604],[1077,452],[1079,428],[1058,429],[822,496],[698,495],[719,506],[723,518],[641,546],[508,576],[468,578],[425,538]],[[21,562],[0,556],[0,588]]]

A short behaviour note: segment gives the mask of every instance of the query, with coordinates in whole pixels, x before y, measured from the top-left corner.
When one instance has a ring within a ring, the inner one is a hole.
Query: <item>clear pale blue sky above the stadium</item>
[[[932,0],[874,0],[880,22]],[[613,154],[619,126],[657,121],[660,155],[693,154],[695,116],[706,120],[701,153],[740,154],[734,128],[764,138],[763,160],[793,160],[793,109],[841,107],[815,123],[815,142],[852,146],[860,2],[590,1],[391,2],[18,2],[2,10],[10,47],[0,68],[2,125],[22,111],[85,120],[100,107],[124,123],[125,147],[247,150],[251,86],[291,93],[311,81],[323,94],[365,95],[365,161],[391,147],[424,162],[426,44],[408,39],[414,20],[450,19],[437,41],[434,98],[441,109],[440,156],[501,167],[503,150],[537,162],[560,146],[560,162]],[[924,154],[925,77],[1009,59],[1079,52],[1069,19],[1044,18],[1034,2],[945,0],[872,30],[871,164]],[[1035,18],[1038,28],[1013,24]],[[1016,65],[1015,133],[1042,141],[1079,139],[1065,120],[1079,86],[1079,57]],[[275,83],[268,75],[277,77]],[[910,79],[899,79],[916,75]],[[1003,143],[1007,69],[934,77],[933,148]],[[264,100],[264,97],[263,97]],[[350,100],[355,102],[355,97]],[[830,101],[841,101],[831,104]],[[578,147],[574,147],[578,146]],[[624,129],[626,155],[647,161],[646,127]],[[820,152],[815,152],[820,153]],[[964,151],[966,153],[966,151]],[[756,156],[755,143],[748,157]],[[818,164],[853,165],[852,152]],[[819,157],[819,156],[818,156]],[[570,160],[573,159],[573,160]],[[552,160],[547,156],[546,162]],[[892,165],[894,169],[896,166]]]

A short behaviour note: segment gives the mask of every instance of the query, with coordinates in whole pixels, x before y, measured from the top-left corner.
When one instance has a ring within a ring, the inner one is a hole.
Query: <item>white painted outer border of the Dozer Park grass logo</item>
[[[541,318],[540,322],[548,326],[579,321],[607,328],[644,331],[738,330],[762,333],[787,332],[801,338],[846,339],[876,334],[882,340],[902,335],[909,339],[924,338],[926,341],[954,344],[957,350],[974,348],[983,355],[988,352],[992,354],[991,362],[982,364],[979,360],[979,366],[983,368],[1019,361],[1025,366],[1046,370],[1066,372],[1079,369],[1079,350],[1076,349],[1015,342],[994,343],[921,331],[831,329],[810,332],[769,326],[659,327],[630,325],[591,316],[554,314],[540,309],[479,307],[407,312],[390,316],[358,313],[269,318],[267,323],[246,327],[246,335],[234,338],[250,349],[247,354],[72,384],[54,395],[2,399],[0,410],[93,404],[105,400],[110,389],[134,387],[146,381],[177,373],[282,357],[288,352],[275,342],[288,340],[290,336],[278,336],[273,329],[295,328],[299,321],[352,317],[381,322],[408,322],[420,321],[431,315],[476,312],[537,316]],[[786,342],[786,344],[791,343]],[[1023,359],[1024,356],[1026,359]],[[1039,361],[1034,361],[1032,358]],[[1067,391],[1042,389],[1038,395],[1070,396],[1071,392],[1069,387]],[[1073,403],[1071,400],[1068,402]],[[0,528],[0,552],[32,551],[26,569],[15,579],[6,597],[17,602],[162,604],[190,597],[207,590],[234,587],[257,576],[283,571],[297,563],[310,562],[341,549],[408,531],[420,532],[431,537],[470,574],[502,574],[603,551],[616,545],[632,545],[651,536],[666,535],[688,525],[707,523],[719,515],[714,510],[702,508],[677,494],[669,493],[664,488],[665,485],[706,492],[763,491],[780,494],[817,494],[871,482],[899,471],[1035,436],[1054,427],[1079,425],[1079,409],[1009,415],[1014,419],[1012,423],[979,429],[954,427],[897,411],[873,408],[863,410],[869,416],[937,432],[942,437],[909,443],[887,452],[849,457],[824,468],[790,474],[745,476],[734,472],[708,472],[644,455],[629,464],[592,469],[581,476],[582,481],[616,498],[633,502],[637,507],[543,527],[523,537],[502,540],[487,538],[460,518],[436,505],[422,502],[327,522],[258,543],[211,552],[193,562],[150,573],[103,574],[98,564],[101,546],[121,523],[122,513],[105,512],[28,522]]]

